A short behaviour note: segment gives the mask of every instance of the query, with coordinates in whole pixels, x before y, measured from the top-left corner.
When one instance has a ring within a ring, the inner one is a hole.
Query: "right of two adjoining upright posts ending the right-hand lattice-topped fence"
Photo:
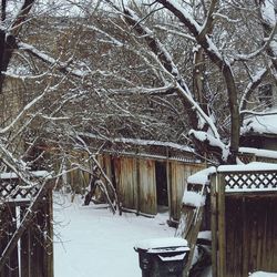
[[[226,276],[225,179],[218,174],[218,276]]]

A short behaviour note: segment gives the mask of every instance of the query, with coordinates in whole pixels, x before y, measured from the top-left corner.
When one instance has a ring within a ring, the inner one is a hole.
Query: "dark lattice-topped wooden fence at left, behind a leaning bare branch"
[[[0,174],[0,257],[39,189],[40,185],[27,186],[14,174]],[[51,192],[49,189],[38,203],[31,224],[24,226],[0,277],[53,277]]]

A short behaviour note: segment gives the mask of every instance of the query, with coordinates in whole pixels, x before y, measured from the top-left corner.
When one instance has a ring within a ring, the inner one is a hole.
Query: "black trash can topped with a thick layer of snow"
[[[134,249],[142,277],[181,277],[189,253],[187,242],[179,237],[144,239]]]

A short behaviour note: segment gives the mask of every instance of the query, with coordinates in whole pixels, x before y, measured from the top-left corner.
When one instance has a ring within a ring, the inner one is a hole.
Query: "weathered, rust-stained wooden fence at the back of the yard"
[[[98,155],[98,161],[116,188],[124,208],[155,215],[158,206],[165,205],[168,206],[173,220],[179,218],[187,177],[205,168],[203,163],[161,156],[102,154]],[[74,171],[68,174],[68,183],[73,189],[81,192],[80,186],[88,186],[89,176],[83,176],[81,171]],[[162,193],[166,199],[161,204]]]

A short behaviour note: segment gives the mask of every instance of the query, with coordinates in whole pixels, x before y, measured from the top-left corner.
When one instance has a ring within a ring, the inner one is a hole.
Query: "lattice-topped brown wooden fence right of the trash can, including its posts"
[[[277,166],[234,168],[212,176],[213,277],[277,273]]]

